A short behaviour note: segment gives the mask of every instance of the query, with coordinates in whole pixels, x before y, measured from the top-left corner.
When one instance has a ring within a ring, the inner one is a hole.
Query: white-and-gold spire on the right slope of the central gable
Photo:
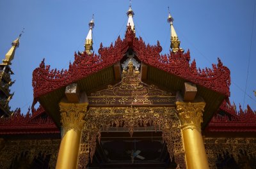
[[[169,11],[169,6],[168,6],[168,11]],[[172,48],[172,52],[177,52],[178,50],[183,52],[184,50],[182,48],[180,48],[180,41],[179,41],[177,33],[173,27],[173,20],[174,19],[171,16],[170,11],[169,11],[167,21],[170,23],[170,26],[171,26],[171,46],[170,47]]]

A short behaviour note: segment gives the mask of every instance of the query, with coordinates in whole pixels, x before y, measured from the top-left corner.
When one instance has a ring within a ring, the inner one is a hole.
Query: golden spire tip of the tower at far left
[[[23,29],[23,30],[24,30],[24,29]],[[22,31],[22,33],[23,33],[23,31]],[[3,64],[4,64],[4,65],[10,65],[10,64],[12,64],[11,61],[12,61],[13,58],[14,58],[15,50],[16,50],[16,48],[19,47],[19,45],[20,45],[20,36],[21,36],[21,33],[20,33],[19,37],[18,37],[16,40],[14,40],[14,41],[12,42],[12,47],[11,47],[10,50],[5,54],[5,58],[3,59],[2,65],[3,65]]]

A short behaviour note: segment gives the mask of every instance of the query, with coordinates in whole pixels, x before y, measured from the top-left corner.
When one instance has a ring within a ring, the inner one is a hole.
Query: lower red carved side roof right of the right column
[[[205,131],[256,132],[256,111],[253,112],[249,105],[246,110],[239,105],[237,111],[235,104],[223,101]]]

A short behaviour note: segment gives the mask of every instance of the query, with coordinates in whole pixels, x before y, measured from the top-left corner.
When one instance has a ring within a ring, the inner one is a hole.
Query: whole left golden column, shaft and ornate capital
[[[61,144],[56,168],[77,168],[77,156],[88,103],[60,102]]]

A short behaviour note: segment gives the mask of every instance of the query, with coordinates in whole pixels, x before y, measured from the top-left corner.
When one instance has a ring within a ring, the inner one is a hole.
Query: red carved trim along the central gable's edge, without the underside
[[[99,55],[88,55],[86,52],[74,54],[74,62],[69,64],[68,70],[50,70],[50,66],[45,66],[44,60],[39,68],[33,71],[34,98],[47,94],[55,89],[63,87],[81,78],[85,78],[99,70],[107,68],[122,59],[128,48],[132,48],[138,58],[150,66],[159,68],[190,82],[212,89],[229,96],[230,71],[223,66],[220,59],[218,64],[212,64],[212,69],[196,68],[195,60],[189,64],[190,53],[178,51],[177,53],[160,54],[162,47],[157,41],[157,45],[145,45],[142,38],[135,38],[131,26],[127,27],[124,40],[120,37],[115,41],[115,45],[99,48]]]

